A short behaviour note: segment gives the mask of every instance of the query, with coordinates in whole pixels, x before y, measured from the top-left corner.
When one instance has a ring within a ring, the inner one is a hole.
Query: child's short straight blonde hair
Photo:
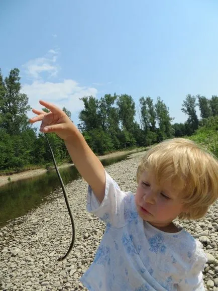
[[[218,198],[218,162],[194,142],[174,138],[147,151],[137,169],[137,182],[144,170],[152,171],[158,183],[170,181],[182,193],[187,212],[179,219],[202,218]]]

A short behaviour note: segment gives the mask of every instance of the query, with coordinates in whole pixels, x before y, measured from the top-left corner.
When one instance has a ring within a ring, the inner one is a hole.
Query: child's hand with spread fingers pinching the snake
[[[37,116],[30,119],[30,123],[42,121],[40,131],[41,132],[55,132],[63,140],[67,140],[70,136],[72,138],[72,131],[75,130],[72,121],[61,109],[55,105],[40,100],[42,106],[50,110],[49,113],[33,109],[33,113]]]

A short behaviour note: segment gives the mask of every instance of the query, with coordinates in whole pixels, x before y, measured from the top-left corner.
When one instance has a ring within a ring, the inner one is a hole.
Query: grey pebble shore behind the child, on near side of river
[[[140,156],[106,167],[123,190],[136,190]],[[67,184],[66,191],[76,224],[76,241],[68,258],[57,261],[71,241],[71,225],[61,189],[50,203],[9,222],[0,230],[0,290],[85,290],[80,276],[93,260],[104,224],[86,212],[87,184]],[[179,222],[200,240],[207,253],[205,290],[218,291],[218,201],[204,219]],[[188,290],[187,290],[188,291]]]

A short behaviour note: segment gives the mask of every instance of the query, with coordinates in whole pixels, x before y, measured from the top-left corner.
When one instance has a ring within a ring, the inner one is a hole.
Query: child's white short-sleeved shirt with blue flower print
[[[101,204],[90,186],[87,210],[106,223],[94,261],[81,277],[90,291],[202,290],[207,261],[188,232],[166,233],[140,218],[132,192],[123,192],[105,172]]]

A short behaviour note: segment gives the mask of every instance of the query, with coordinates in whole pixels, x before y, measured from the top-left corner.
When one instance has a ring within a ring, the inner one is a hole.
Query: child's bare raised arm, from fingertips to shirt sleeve
[[[61,109],[45,101],[40,101],[40,104],[49,109],[50,112],[45,113],[44,111],[33,109],[37,116],[31,118],[30,122],[42,121],[41,132],[55,132],[64,140],[77,170],[91,186],[96,198],[101,203],[105,190],[103,165],[89,148],[82,134]]]

